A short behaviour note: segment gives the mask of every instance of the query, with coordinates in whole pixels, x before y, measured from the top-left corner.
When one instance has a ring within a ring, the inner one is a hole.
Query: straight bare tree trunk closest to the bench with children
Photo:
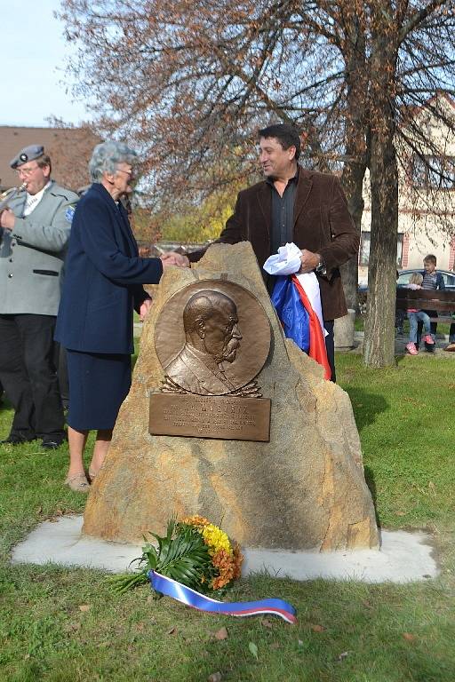
[[[374,45],[371,90],[371,246],[363,362],[387,367],[395,361],[398,175],[395,155],[393,37]]]

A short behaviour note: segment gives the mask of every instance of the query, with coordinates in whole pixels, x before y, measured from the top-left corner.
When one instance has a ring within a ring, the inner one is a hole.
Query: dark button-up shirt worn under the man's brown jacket
[[[284,188],[283,196],[278,194],[274,178],[267,178],[267,185],[272,192],[272,234],[270,234],[270,255],[278,252],[278,247],[291,243],[294,236],[294,202],[297,192],[297,181],[299,179],[299,168],[293,178],[288,180]],[[269,293],[273,290],[275,278],[267,277],[267,289]]]

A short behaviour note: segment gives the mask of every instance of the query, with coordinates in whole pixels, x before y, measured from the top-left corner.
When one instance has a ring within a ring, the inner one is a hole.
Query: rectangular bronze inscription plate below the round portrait
[[[270,400],[152,393],[148,431],[156,436],[270,440]]]

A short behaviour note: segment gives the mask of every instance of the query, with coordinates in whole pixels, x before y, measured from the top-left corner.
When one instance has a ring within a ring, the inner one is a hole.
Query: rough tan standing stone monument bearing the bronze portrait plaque
[[[243,547],[378,547],[347,393],[284,339],[249,242],[154,296],[84,533],[140,543],[200,514]]]

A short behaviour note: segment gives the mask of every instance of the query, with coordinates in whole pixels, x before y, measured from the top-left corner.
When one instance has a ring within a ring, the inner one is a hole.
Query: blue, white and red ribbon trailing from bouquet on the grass
[[[156,571],[148,571],[148,580],[155,591],[161,592],[166,597],[172,597],[172,599],[176,599],[188,607],[196,608],[198,611],[239,617],[272,614],[279,615],[287,623],[297,623],[295,608],[286,601],[283,601],[283,599],[224,602],[206,597],[204,594],[200,594],[200,592],[196,592],[196,590],[192,590],[190,587],[166,577],[166,575],[156,573]]]

